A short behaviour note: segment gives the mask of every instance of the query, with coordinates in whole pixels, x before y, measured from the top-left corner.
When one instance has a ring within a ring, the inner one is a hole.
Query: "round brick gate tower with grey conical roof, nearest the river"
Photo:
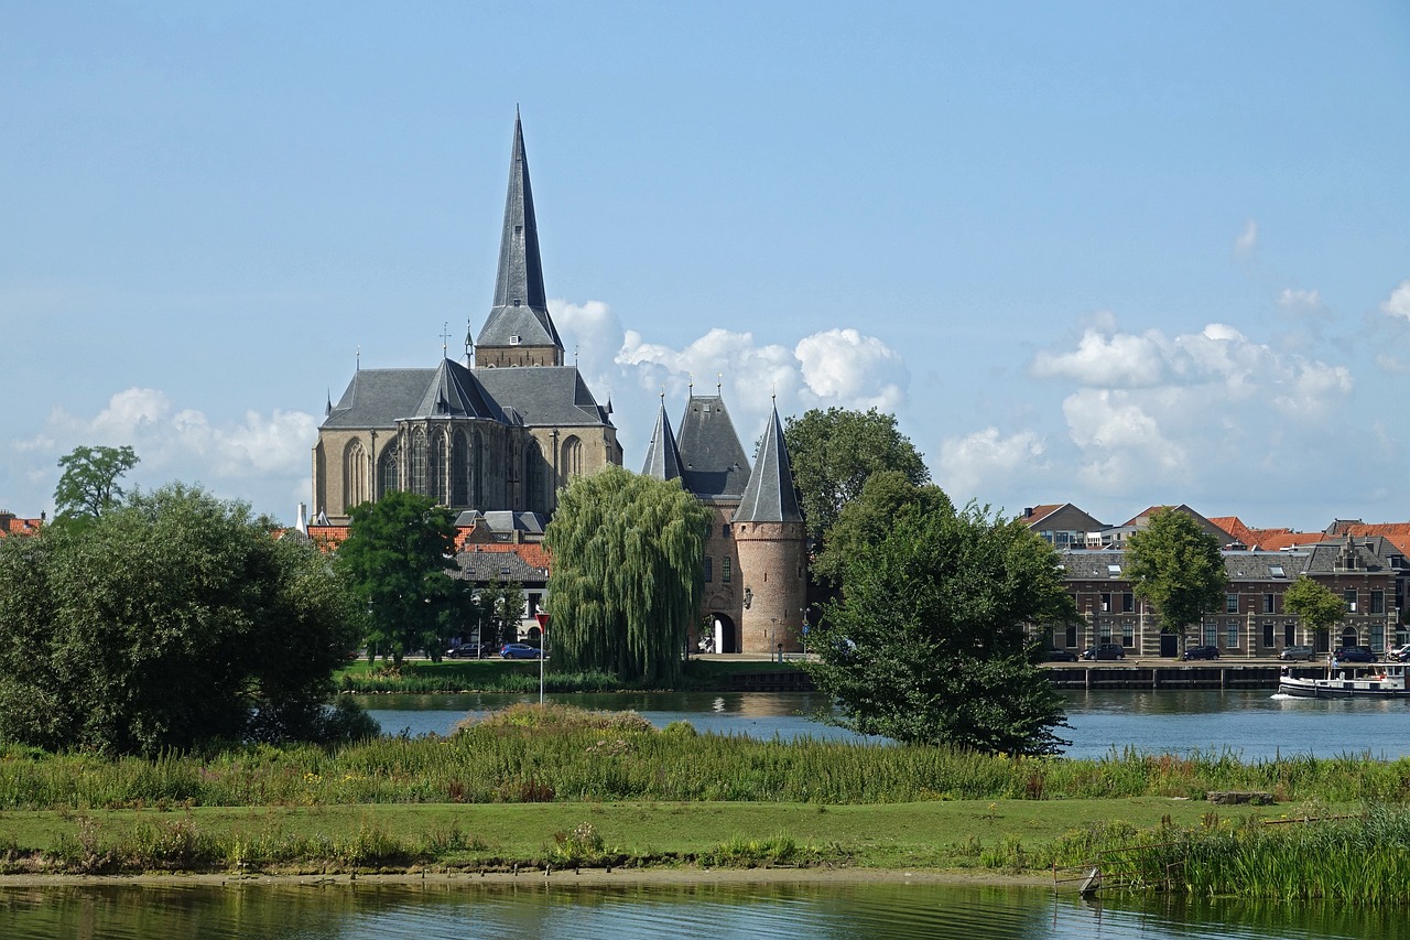
[[[777,408],[768,415],[754,470],[730,528],[744,582],[742,652],[802,649],[808,538]]]

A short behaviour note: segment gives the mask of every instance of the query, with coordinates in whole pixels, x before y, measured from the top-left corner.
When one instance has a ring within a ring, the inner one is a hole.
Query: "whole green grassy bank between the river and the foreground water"
[[[1206,802],[1213,790],[1277,803],[1228,812]],[[1407,795],[1403,759],[1011,759],[519,706],[448,738],[337,749],[106,761],[10,748],[0,868],[1100,864],[1136,891],[1403,902]]]

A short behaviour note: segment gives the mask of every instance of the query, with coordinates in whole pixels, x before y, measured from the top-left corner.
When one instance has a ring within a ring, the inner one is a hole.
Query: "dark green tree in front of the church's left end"
[[[455,591],[455,526],[430,497],[393,490],[348,512],[337,563],[365,611],[368,655],[391,658],[444,649],[443,614]]]

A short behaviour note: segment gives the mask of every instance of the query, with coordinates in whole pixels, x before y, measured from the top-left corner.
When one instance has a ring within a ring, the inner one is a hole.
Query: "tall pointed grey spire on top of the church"
[[[551,363],[533,361],[529,364],[563,364],[563,340],[558,339],[558,330],[548,316],[548,302],[543,288],[539,223],[534,219],[529,159],[525,157],[523,126],[517,109],[515,110],[515,145],[509,157],[505,227],[499,239],[495,303],[475,344],[482,353],[486,351],[486,347],[547,349],[551,353]],[[495,357],[491,356],[491,358]],[[519,364],[516,358],[482,364]]]

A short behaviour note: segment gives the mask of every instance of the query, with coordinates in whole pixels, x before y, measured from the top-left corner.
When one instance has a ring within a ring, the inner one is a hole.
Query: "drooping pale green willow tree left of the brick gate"
[[[680,483],[620,467],[564,490],[544,538],[556,669],[678,679],[711,521]]]

